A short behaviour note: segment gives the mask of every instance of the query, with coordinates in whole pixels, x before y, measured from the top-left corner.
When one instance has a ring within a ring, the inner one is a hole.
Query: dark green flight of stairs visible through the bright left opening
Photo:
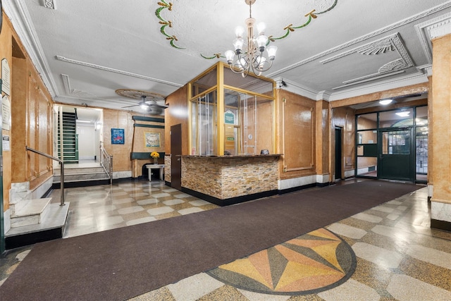
[[[78,163],[78,134],[76,113],[63,112],[63,143],[61,144],[61,123],[58,115],[58,158],[64,163]],[[63,154],[61,154],[61,145]]]

